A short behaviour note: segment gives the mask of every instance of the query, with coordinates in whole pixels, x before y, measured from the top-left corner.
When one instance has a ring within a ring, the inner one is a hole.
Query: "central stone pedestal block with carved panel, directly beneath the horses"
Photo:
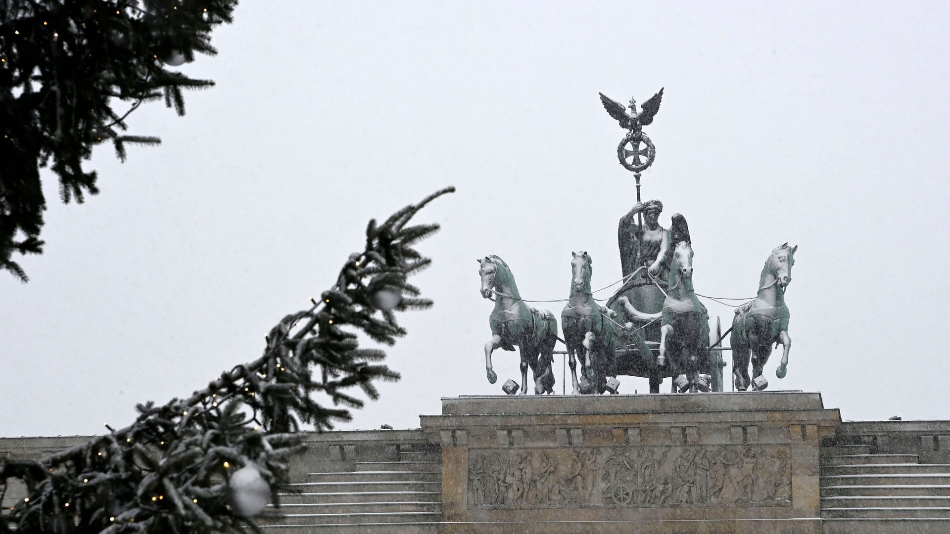
[[[421,419],[443,449],[444,521],[466,532],[750,518],[811,518],[788,527],[817,532],[820,443],[841,423],[800,391],[472,396]]]

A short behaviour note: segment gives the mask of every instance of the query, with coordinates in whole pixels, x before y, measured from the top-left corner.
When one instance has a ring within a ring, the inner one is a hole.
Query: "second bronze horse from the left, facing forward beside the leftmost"
[[[561,312],[561,330],[567,346],[574,394],[602,393],[608,376],[617,376],[616,349],[623,348],[621,333],[633,323],[620,325],[617,313],[599,306],[591,294],[593,260],[585,251],[572,252],[571,296]],[[578,383],[576,354],[581,353],[580,374],[590,381]]]

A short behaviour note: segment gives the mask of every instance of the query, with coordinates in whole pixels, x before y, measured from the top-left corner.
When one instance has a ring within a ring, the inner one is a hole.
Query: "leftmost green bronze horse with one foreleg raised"
[[[485,372],[488,382],[494,384],[498,375],[491,368],[491,353],[501,347],[522,355],[522,394],[527,393],[528,368],[534,375],[535,393],[554,392],[554,344],[558,340],[558,321],[547,310],[529,307],[518,293],[515,277],[504,259],[494,255],[478,259],[482,277],[482,296],[497,296],[495,309],[488,316],[491,340],[485,343]]]

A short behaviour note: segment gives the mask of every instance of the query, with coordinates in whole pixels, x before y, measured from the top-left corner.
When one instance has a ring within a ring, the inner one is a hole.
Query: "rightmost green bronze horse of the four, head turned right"
[[[788,306],[785,305],[785,289],[791,282],[791,266],[795,264],[798,245],[788,243],[775,247],[766,259],[759,276],[759,292],[755,300],[735,309],[732,317],[732,375],[735,389],[746,391],[750,386],[749,363],[753,376],[761,378],[754,384],[756,390],[764,390],[769,382],[762,376],[763,368],[771,355],[771,344],[783,347],[782,362],[775,375],[785,378],[788,366]]]

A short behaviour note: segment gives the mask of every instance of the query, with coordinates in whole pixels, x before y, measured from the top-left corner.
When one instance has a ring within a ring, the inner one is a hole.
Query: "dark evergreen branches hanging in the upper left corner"
[[[40,168],[59,179],[64,202],[99,192],[83,168],[93,146],[125,160],[126,120],[164,100],[184,114],[182,89],[213,86],[167,67],[213,55],[211,31],[230,23],[237,0],[0,0],[0,269],[22,281],[13,253],[41,254],[46,199]],[[117,108],[113,108],[113,106]]]

